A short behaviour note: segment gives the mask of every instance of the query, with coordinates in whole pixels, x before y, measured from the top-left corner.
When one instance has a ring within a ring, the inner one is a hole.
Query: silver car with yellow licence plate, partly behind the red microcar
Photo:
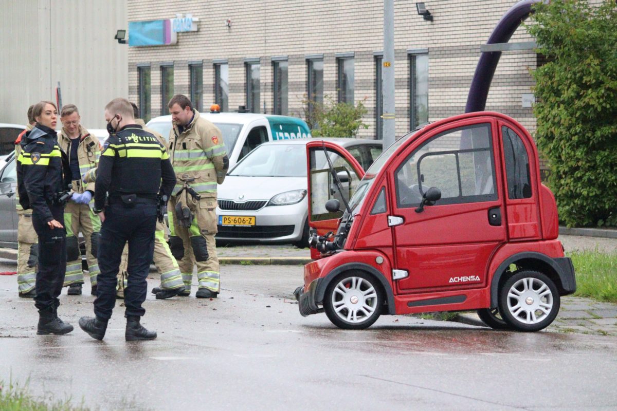
[[[252,150],[218,186],[217,240],[308,246],[306,144],[317,139],[267,142]],[[327,138],[368,169],[381,154],[381,140]],[[336,168],[345,161],[330,153]],[[323,158],[325,161],[325,157]],[[327,168],[326,163],[323,168]]]

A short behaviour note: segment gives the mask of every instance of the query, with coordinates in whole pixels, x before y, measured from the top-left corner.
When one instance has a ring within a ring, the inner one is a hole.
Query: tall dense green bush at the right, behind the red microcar
[[[534,70],[536,143],[561,221],[617,226],[617,10],[614,0],[534,6],[529,33],[548,62]]]

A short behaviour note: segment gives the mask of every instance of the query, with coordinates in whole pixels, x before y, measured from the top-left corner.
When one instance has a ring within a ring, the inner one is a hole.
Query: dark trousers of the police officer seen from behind
[[[112,204],[105,209],[105,221],[99,238],[99,269],[94,314],[110,319],[115,306],[115,293],[122,250],[128,241],[128,285],[124,291],[125,315],[144,315],[141,304],[146,300],[146,277],[154,253],[156,204],[137,203],[131,208]]]

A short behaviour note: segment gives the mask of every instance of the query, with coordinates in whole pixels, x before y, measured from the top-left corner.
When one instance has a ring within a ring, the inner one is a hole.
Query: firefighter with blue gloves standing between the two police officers
[[[73,196],[64,209],[64,226],[67,229],[67,274],[63,287],[68,286],[68,295],[81,294],[83,272],[78,240],[81,232],[86,243],[91,294],[96,295],[96,276],[100,272],[96,254],[101,220],[90,208],[94,183],[86,184],[81,180],[81,176],[98,166],[101,145],[96,137],[80,125],[80,115],[75,105],[67,104],[62,107],[60,121],[63,127],[62,134],[58,137],[58,145],[67,153],[73,174],[71,177]]]

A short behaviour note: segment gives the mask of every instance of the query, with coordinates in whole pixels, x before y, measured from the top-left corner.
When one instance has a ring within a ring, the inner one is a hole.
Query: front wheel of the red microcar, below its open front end
[[[354,303],[354,298],[357,302]],[[323,308],[328,319],[344,330],[368,328],[381,315],[383,308],[381,284],[363,271],[347,271],[334,277],[323,296]]]

